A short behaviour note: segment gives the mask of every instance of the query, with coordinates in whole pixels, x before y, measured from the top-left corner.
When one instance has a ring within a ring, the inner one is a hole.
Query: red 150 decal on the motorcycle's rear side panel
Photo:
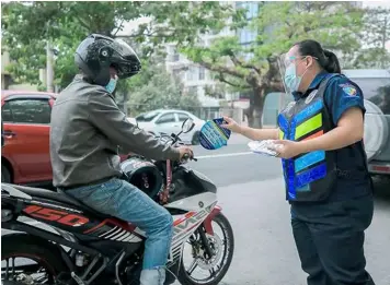
[[[85,216],[69,214],[64,211],[58,211],[49,207],[38,205],[28,205],[23,212],[33,216],[43,218],[45,221],[57,222],[66,226],[79,227],[90,222]]]

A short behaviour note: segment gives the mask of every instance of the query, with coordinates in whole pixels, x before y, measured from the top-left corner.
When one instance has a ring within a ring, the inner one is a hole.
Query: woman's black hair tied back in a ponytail
[[[320,43],[313,39],[306,39],[295,44],[298,46],[299,54],[301,56],[311,56],[317,58],[321,68],[329,73],[341,73],[341,67],[336,55],[326,49],[322,49]]]

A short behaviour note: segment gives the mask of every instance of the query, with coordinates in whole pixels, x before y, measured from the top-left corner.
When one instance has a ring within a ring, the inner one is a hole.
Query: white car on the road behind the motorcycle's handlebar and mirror
[[[127,118],[133,123],[138,123],[140,129],[152,133],[179,133],[182,130],[183,122],[191,118],[195,127],[191,132],[180,135],[182,141],[193,145],[199,144],[199,132],[205,121],[193,114],[175,109],[158,109],[138,115],[136,118]]]

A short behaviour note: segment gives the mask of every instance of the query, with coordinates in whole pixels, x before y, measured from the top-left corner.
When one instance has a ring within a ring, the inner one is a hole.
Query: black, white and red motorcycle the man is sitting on
[[[180,134],[193,128],[187,119],[179,134],[161,135],[161,140],[180,145]],[[217,187],[186,166],[191,159],[196,161],[190,155],[181,162],[130,155],[122,163],[128,181],[173,217],[165,285],[176,280],[183,285],[218,284],[233,257],[233,231],[217,205]],[[150,191],[158,181],[156,174],[162,178],[158,192]],[[21,231],[2,236],[3,284],[139,284],[144,231],[65,192],[2,183],[1,227]],[[191,253],[190,262],[184,253]],[[22,264],[15,265],[20,259]],[[196,269],[200,277],[195,276]]]

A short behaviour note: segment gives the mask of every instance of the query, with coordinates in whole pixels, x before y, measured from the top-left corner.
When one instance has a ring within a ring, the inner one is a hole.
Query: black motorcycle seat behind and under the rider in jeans
[[[5,183],[2,183],[5,185]],[[81,210],[84,210],[87,212],[93,213],[94,215],[103,216],[103,217],[110,217],[108,215],[105,215],[103,213],[100,213],[95,211],[92,207],[89,207],[88,205],[81,203],[77,199],[64,193],[62,191],[51,191],[47,189],[42,189],[42,188],[35,188],[35,187],[27,187],[27,186],[20,186],[20,185],[9,185],[7,183],[7,187],[12,187],[19,191],[22,191],[25,194],[28,194],[31,197],[35,198],[42,198],[42,199],[48,199],[57,202],[62,202],[69,205],[74,205]],[[5,189],[4,189],[5,190]]]

